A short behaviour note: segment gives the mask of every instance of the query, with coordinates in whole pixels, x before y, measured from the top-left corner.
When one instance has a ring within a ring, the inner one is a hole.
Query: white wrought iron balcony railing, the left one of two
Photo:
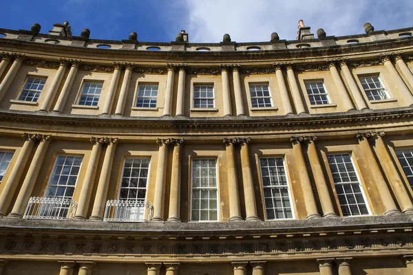
[[[72,219],[77,203],[58,197],[31,197],[23,219]]]

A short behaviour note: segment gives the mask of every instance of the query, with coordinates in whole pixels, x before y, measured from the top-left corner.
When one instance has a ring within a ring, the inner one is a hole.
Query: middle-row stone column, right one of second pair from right
[[[304,137],[304,140],[308,144],[308,160],[310,161],[311,170],[313,171],[313,176],[315,179],[315,185],[317,186],[321,209],[323,210],[323,217],[336,218],[337,214],[334,210],[330,192],[328,190],[328,184],[326,182],[326,178],[324,177],[323,169],[321,168],[321,163],[317,155],[317,148],[315,148],[315,140],[317,140],[317,136],[313,135]]]

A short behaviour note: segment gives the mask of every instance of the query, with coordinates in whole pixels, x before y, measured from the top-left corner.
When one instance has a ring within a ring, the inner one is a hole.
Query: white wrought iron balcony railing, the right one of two
[[[112,200],[106,202],[103,221],[151,221],[153,206],[144,200]]]

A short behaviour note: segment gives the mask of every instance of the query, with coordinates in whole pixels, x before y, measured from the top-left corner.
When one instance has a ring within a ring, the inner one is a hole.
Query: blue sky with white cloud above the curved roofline
[[[363,33],[363,24],[375,30],[413,27],[412,0],[3,0],[0,28],[30,30],[41,24],[47,33],[54,23],[69,21],[73,35],[84,28],[91,39],[174,41],[187,30],[190,42],[220,42],[225,33],[233,41],[269,41],[297,36],[299,19],[313,33]]]

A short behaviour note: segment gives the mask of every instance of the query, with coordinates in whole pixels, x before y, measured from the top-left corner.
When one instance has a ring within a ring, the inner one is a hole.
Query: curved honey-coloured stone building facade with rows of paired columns
[[[0,273],[413,274],[413,28],[0,29]]]

